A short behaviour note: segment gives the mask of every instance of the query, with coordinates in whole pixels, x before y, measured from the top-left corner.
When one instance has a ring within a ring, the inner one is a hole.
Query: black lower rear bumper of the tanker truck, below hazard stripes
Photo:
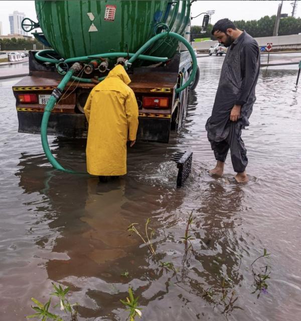
[[[19,132],[40,134],[43,112],[17,111]],[[171,130],[171,118],[139,117],[137,139],[168,142]],[[84,114],[52,113],[49,117],[47,133],[49,135],[86,138],[88,124]]]

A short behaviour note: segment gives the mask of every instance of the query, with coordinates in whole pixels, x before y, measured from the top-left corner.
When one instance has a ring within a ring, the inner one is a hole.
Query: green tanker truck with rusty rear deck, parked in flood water
[[[137,137],[168,142],[170,131],[182,125],[189,86],[198,82],[188,42],[191,3],[37,0],[38,22],[26,18],[22,26],[41,28],[33,35],[50,49],[30,52],[29,76],[13,87],[19,132],[40,133],[46,110],[48,134],[86,137],[89,92],[122,64],[139,106]]]

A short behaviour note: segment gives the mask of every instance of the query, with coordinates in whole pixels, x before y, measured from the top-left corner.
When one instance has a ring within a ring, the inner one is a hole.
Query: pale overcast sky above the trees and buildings
[[[70,1],[70,0],[69,0]],[[76,1],[76,0],[72,0]],[[293,0],[284,0],[282,6],[282,14],[291,16]],[[211,17],[211,23],[214,24],[219,19],[228,18],[230,20],[254,20],[264,16],[272,16],[277,14],[278,4],[281,1],[203,1],[199,0],[192,4],[192,17],[199,15],[208,10],[215,10],[215,14]],[[296,18],[301,18],[301,0],[297,1]],[[0,1],[0,22],[2,22],[3,35],[9,34],[9,15],[17,10],[23,12],[26,18],[30,18],[37,22],[35,2],[31,0],[10,0]],[[193,19],[192,25],[202,25],[203,16]]]

